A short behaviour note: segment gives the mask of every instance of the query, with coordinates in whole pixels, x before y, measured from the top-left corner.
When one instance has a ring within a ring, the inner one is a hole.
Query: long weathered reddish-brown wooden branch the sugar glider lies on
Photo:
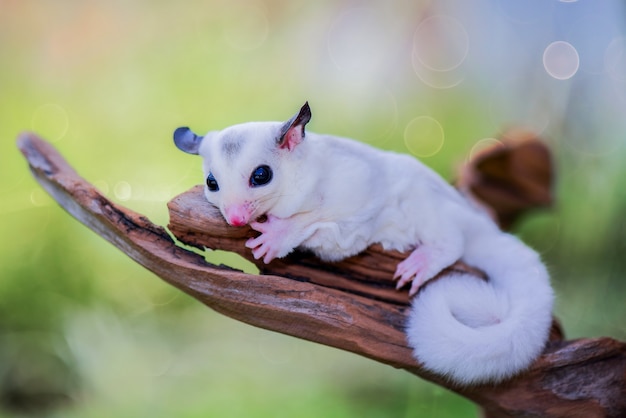
[[[164,228],[108,200],[34,134],[21,135],[18,147],[35,178],[72,216],[220,313],[405,369],[473,400],[491,418],[626,416],[624,343],[562,341],[555,332],[527,372],[497,386],[458,387],[424,371],[411,356],[403,332],[408,298],[390,281],[402,254],[374,247],[336,264],[295,254],[260,265],[262,276],[214,266],[176,245]],[[199,188],[176,197],[169,208],[169,228],[180,241],[250,259],[243,242],[251,231],[227,227]]]

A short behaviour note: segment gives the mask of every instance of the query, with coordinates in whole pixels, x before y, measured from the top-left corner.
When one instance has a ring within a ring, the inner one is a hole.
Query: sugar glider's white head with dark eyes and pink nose
[[[204,136],[182,127],[174,143],[203,159],[205,195],[230,225],[270,213],[293,181],[286,160],[304,139],[308,102],[287,122],[248,122]]]

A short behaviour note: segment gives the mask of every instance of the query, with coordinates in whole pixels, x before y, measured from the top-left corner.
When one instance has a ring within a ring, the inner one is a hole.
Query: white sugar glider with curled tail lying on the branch
[[[410,294],[458,260],[457,274],[413,299],[407,324],[416,359],[462,385],[496,383],[542,352],[553,292],[538,254],[418,160],[305,132],[305,103],[287,122],[249,122],[204,136],[178,128],[178,148],[203,158],[205,195],[232,226],[261,234],[246,247],[269,263],[295,248],[327,261],[369,245],[412,251],[398,264]],[[261,216],[265,218],[260,222]]]

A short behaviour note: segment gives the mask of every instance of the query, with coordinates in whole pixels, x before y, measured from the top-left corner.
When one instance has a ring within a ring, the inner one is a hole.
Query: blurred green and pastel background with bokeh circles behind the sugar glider
[[[201,183],[172,144],[248,120],[412,152],[444,177],[502,129],[539,132],[542,252],[569,338],[626,339],[626,13],[619,0],[0,0],[0,416],[474,416],[405,372],[219,316],[61,210],[15,147],[33,130],[167,224]],[[214,262],[242,267],[232,257]]]

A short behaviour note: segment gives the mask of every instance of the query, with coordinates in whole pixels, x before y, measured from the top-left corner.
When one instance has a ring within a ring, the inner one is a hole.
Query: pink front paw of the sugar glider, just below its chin
[[[275,258],[286,256],[293,250],[287,241],[288,222],[268,215],[265,222],[250,222],[250,227],[261,233],[256,238],[246,241],[246,247],[252,250],[255,260],[263,259],[265,264]]]

